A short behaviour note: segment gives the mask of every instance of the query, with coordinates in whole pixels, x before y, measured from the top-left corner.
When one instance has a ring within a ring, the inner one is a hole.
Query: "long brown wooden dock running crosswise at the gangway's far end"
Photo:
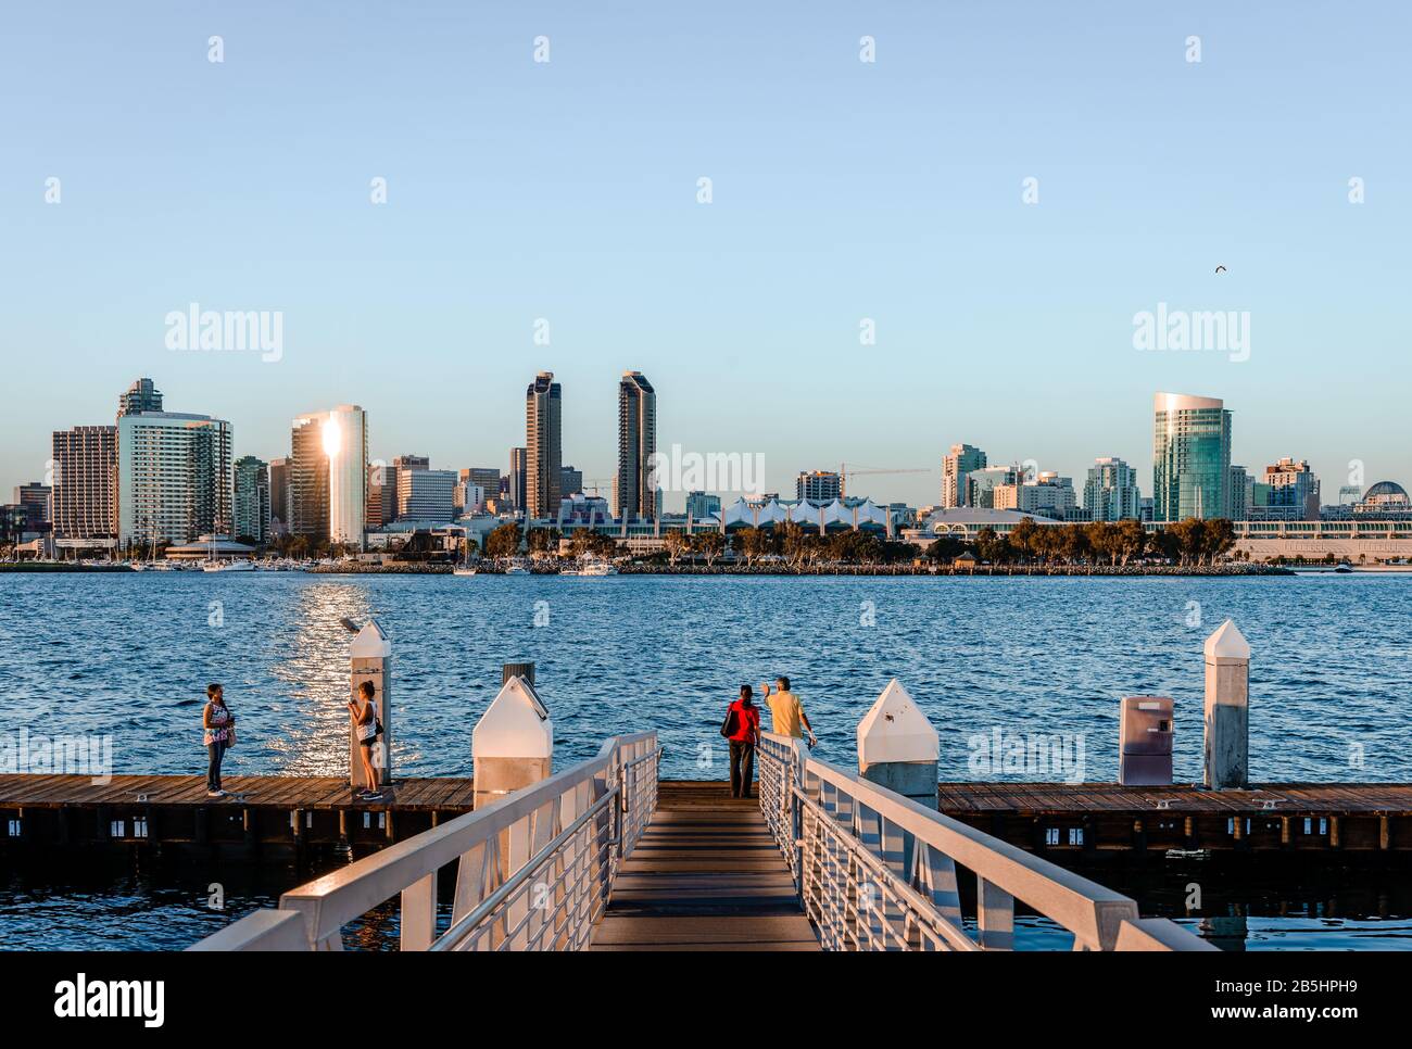
[[[213,799],[199,775],[116,775],[106,784],[75,775],[0,775],[0,846],[388,844],[470,812],[474,793],[472,779],[449,777],[398,779],[381,802],[354,801],[342,777],[226,777],[225,785],[229,796]],[[1412,784],[1206,791],[971,782],[942,784],[938,798],[943,813],[1022,849],[1058,854],[1060,863],[1063,853],[1171,849],[1412,853]],[[760,833],[762,825],[748,826],[750,809],[731,802],[720,781],[662,781],[662,823],[650,832],[661,830],[650,849],[662,851],[644,856],[675,851],[674,863],[683,863],[723,834]],[[744,823],[736,826],[738,820]],[[744,853],[737,858],[744,863]],[[723,871],[698,871],[713,873]]]

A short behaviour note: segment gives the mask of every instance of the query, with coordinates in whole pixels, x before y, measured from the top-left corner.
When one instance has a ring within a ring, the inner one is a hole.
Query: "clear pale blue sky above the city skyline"
[[[1308,457],[1326,501],[1350,459],[1412,486],[1409,11],[11,4],[0,497],[138,376],[237,455],[357,402],[374,457],[505,469],[541,368],[587,477],[640,368],[659,446],[788,493],[847,460],[929,467],[853,491],[932,503],[966,440],[1151,494],[1158,390],[1223,397],[1236,462]],[[189,302],[282,311],[281,360],[168,350]],[[1248,311],[1250,359],[1134,349],[1159,302]]]

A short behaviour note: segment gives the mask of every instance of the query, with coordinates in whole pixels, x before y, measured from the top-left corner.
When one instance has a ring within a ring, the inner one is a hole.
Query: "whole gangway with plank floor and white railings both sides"
[[[758,801],[659,791],[657,733],[285,892],[193,950],[342,950],[400,898],[402,950],[1213,950],[1048,860],[765,734]],[[442,875],[455,873],[449,908]]]

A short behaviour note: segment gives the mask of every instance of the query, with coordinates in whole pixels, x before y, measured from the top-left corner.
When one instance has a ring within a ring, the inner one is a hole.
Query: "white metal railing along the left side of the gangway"
[[[402,950],[579,950],[657,809],[657,733],[299,885],[191,950],[342,950],[343,926],[401,897]],[[436,932],[438,871],[456,863]],[[298,919],[298,921],[295,921]]]

